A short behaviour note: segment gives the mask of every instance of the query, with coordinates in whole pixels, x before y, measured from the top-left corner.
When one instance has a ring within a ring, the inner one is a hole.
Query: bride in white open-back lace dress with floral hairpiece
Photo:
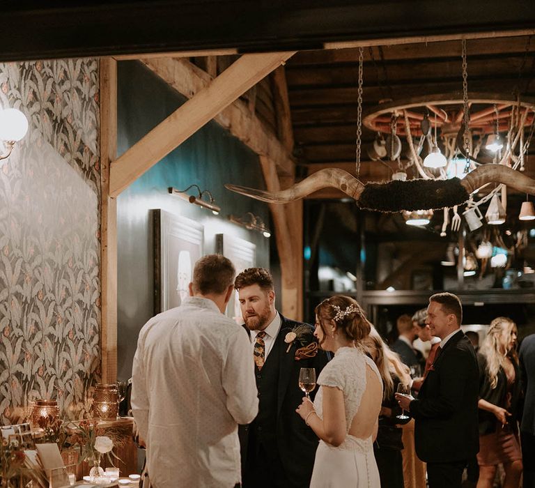
[[[316,307],[320,347],[334,358],[318,378],[314,403],[303,398],[297,409],[320,438],[311,488],[380,488],[373,439],[377,435],[382,380],[362,341],[371,324],[360,305],[332,296]]]

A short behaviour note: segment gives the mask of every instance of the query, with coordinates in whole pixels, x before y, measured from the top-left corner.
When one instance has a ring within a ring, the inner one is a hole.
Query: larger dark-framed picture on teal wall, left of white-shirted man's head
[[[178,307],[189,296],[195,262],[203,255],[204,227],[194,220],[154,210],[154,312]]]

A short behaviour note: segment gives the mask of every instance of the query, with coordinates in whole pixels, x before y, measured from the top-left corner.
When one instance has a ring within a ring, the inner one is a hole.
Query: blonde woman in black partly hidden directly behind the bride
[[[403,488],[403,429],[396,415],[401,413],[394,397],[399,383],[410,384],[409,368],[391,351],[375,330],[366,340],[366,353],[377,365],[382,378],[383,395],[377,439],[373,444],[382,488]]]

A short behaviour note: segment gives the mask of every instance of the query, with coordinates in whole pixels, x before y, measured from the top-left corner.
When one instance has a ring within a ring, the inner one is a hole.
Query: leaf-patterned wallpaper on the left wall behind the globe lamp
[[[29,120],[0,161],[3,423],[33,399],[81,418],[100,379],[98,89],[96,59],[0,64],[0,107]]]

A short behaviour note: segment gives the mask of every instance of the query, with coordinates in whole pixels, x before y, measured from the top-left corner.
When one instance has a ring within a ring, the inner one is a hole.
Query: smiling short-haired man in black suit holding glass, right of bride
[[[416,452],[427,463],[430,488],[459,488],[467,461],[479,451],[479,369],[474,347],[460,323],[463,309],[452,293],[429,298],[426,323],[440,349],[418,398],[399,395],[416,420]]]

